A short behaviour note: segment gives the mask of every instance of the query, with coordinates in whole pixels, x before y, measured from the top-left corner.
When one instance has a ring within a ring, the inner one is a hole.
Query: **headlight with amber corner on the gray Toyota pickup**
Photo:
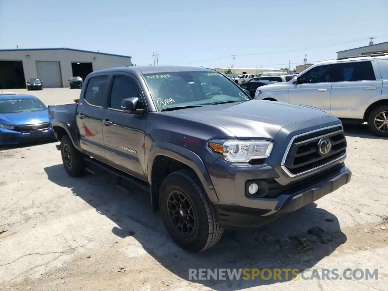
[[[209,148],[232,163],[248,163],[251,159],[265,159],[274,144],[267,140],[211,140]]]

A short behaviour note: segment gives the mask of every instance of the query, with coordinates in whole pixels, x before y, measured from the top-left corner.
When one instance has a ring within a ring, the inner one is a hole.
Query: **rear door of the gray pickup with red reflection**
[[[76,120],[80,132],[80,147],[90,156],[104,158],[102,113],[106,101],[108,75],[95,75],[87,81],[85,94],[77,106]],[[81,92],[83,94],[83,92]]]

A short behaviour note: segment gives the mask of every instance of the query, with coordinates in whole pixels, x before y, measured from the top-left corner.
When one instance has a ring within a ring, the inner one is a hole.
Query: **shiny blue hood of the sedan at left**
[[[43,122],[49,122],[49,115],[47,109],[33,112],[0,114],[0,123],[10,125],[36,124]]]

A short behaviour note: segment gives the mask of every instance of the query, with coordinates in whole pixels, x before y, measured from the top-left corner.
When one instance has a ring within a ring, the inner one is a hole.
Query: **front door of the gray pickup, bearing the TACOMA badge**
[[[144,168],[144,137],[146,114],[135,116],[121,110],[121,101],[138,97],[144,109],[139,82],[130,74],[114,74],[109,92],[108,109],[102,116],[105,157],[109,163],[146,180]]]

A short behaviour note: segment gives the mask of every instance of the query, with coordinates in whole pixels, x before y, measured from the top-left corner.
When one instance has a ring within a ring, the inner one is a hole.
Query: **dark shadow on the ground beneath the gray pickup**
[[[290,281],[291,272],[289,277],[283,273],[276,280],[267,279],[268,272],[264,279],[258,276],[248,280],[217,280],[205,275],[205,280],[199,280],[200,277],[189,278],[189,268],[212,271],[215,268],[295,268],[301,272],[313,268],[347,239],[338,219],[313,203],[259,230],[225,231],[215,247],[202,253],[188,253],[172,242],[159,213],[151,210],[149,194],[137,186],[126,185],[129,190],[126,193],[114,186],[114,179],[107,173],[71,178],[63,165],[44,170],[51,182],[71,189],[75,196],[114,222],[117,225],[112,229],[114,236],[134,237],[173,274],[215,290],[232,291]]]

